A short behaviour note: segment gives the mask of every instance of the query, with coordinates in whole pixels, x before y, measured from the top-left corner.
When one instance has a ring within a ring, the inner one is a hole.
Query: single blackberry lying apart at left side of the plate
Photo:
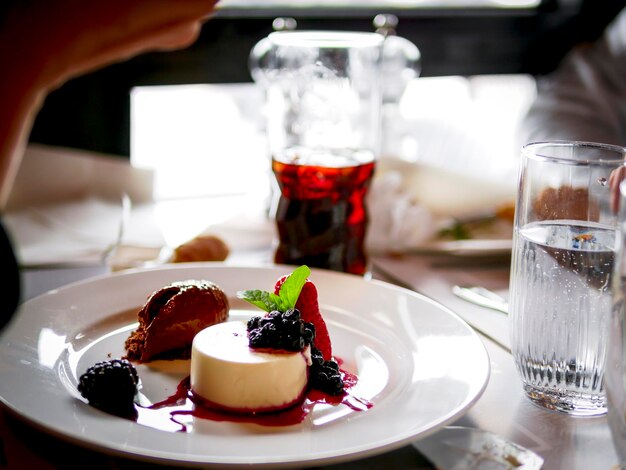
[[[98,362],[78,381],[78,391],[90,405],[119,416],[134,415],[138,386],[137,370],[126,359]]]

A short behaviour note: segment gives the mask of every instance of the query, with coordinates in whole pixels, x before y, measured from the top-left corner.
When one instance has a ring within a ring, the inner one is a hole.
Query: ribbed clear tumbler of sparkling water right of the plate
[[[606,413],[616,215],[611,174],[624,149],[542,142],[522,149],[510,280],[511,348],[532,402]]]

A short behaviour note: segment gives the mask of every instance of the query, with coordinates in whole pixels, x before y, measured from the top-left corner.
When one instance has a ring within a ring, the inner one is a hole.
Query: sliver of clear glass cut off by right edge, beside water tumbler
[[[626,468],[626,181],[619,185],[618,230],[615,242],[613,312],[604,373],[608,422],[620,468]]]

